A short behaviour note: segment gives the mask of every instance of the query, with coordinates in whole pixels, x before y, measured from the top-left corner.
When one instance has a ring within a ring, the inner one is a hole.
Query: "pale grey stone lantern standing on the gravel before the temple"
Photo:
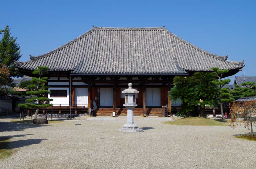
[[[122,129],[119,129],[119,132],[143,132],[142,129],[139,128],[138,125],[136,125],[133,122],[133,108],[137,106],[135,94],[139,93],[139,91],[132,88],[132,83],[128,84],[128,89],[125,89],[122,91],[122,93],[125,93],[125,104],[124,106],[127,108],[127,123],[122,126]]]

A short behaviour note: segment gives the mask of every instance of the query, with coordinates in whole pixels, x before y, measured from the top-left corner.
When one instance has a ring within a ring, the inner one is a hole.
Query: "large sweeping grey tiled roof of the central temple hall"
[[[16,67],[75,74],[184,74],[187,71],[239,69],[242,62],[231,62],[177,37],[163,27],[94,27],[71,42]]]

